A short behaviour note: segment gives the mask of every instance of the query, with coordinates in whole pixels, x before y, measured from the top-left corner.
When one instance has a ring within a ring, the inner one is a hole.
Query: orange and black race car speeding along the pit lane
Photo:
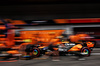
[[[83,34],[79,34],[79,35],[83,35]],[[85,39],[83,39],[83,38],[80,39],[79,35],[77,35],[78,36],[77,40],[73,40],[73,39],[77,38],[76,35],[73,35],[73,36],[70,36],[70,40],[65,39],[65,40],[59,41],[58,42],[59,44],[55,44],[55,45],[54,45],[54,43],[55,43],[54,42],[51,49],[53,51],[55,51],[55,50],[59,51],[60,55],[62,55],[62,54],[63,55],[74,54],[74,55],[90,56],[91,50],[93,49],[93,47],[95,45],[94,42],[85,41]],[[84,41],[79,41],[78,42],[78,40],[84,40]],[[47,53],[52,51],[51,49],[49,49],[49,47],[50,46],[41,46],[41,45],[37,46],[37,47],[33,47],[31,55],[34,56],[34,57],[38,57],[42,54],[47,54]]]

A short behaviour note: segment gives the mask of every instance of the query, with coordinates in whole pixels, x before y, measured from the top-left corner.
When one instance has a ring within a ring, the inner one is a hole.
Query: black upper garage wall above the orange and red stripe
[[[99,3],[0,5],[0,18],[49,20],[99,18]]]

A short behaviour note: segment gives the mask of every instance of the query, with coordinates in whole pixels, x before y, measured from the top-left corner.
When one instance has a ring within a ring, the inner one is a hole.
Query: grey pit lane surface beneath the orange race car
[[[100,56],[85,57],[85,61],[79,61],[75,56],[61,56],[60,59],[60,61],[52,61],[49,58],[0,62],[0,66],[100,66]]]

